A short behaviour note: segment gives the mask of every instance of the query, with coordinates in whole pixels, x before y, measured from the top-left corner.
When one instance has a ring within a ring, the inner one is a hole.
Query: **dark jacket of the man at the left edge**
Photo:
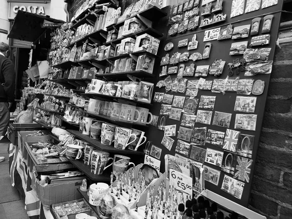
[[[15,71],[11,60],[0,55],[0,102],[14,102]]]

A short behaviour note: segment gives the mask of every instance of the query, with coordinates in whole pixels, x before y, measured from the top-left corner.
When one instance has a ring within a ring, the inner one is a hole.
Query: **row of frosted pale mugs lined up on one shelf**
[[[89,100],[87,111],[109,116],[113,120],[141,125],[150,124],[153,120],[153,115],[149,112],[149,109],[96,99]],[[148,115],[150,116],[150,120],[147,122]]]

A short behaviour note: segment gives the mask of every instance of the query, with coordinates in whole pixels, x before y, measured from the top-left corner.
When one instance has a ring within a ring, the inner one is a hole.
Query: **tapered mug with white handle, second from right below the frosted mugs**
[[[133,140],[129,142],[130,137],[133,137]],[[125,150],[126,147],[136,141],[137,136],[132,134],[132,129],[116,127],[114,133],[114,147],[117,149]]]

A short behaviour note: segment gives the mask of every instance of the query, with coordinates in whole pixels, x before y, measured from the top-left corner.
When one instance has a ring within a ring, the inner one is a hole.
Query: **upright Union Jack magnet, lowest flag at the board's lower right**
[[[253,160],[237,157],[234,178],[249,183]]]

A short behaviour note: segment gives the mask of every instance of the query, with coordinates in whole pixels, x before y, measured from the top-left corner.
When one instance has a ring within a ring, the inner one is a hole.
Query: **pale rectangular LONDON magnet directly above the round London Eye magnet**
[[[255,131],[256,117],[255,114],[236,114],[234,128]]]

